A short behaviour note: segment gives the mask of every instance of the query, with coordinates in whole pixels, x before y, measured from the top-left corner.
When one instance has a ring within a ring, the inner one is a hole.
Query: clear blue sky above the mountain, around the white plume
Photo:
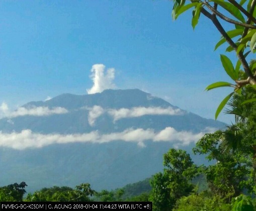
[[[62,93],[87,94],[94,64],[115,69],[117,88],[139,88],[214,119],[230,81],[213,51],[220,34],[192,11],[171,17],[172,1],[1,1],[0,103],[16,109]],[[230,81],[231,82],[231,81]],[[233,117],[221,114],[220,121]]]

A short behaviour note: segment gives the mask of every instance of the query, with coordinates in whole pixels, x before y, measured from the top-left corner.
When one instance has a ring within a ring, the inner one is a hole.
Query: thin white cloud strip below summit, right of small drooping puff
[[[109,110],[108,113],[113,117],[114,121],[123,118],[141,117],[144,115],[183,115],[184,113],[180,109],[173,109],[172,107],[134,107],[132,109],[119,109]]]

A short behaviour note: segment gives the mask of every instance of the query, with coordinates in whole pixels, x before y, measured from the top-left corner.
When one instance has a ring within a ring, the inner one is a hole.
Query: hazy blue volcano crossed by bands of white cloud
[[[32,101],[0,119],[0,186],[115,189],[161,171],[169,148],[191,152],[204,133],[224,127],[139,89]]]

